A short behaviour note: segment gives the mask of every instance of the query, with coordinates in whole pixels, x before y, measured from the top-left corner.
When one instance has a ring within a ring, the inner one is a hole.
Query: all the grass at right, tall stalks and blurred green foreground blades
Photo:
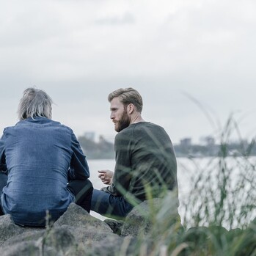
[[[233,133],[241,139],[230,117],[220,134],[219,153],[204,167],[190,159],[195,175],[188,197],[180,202],[182,226],[173,222],[172,195],[158,208],[151,205],[146,214],[152,232],[148,241],[139,240],[135,255],[256,255],[256,158],[250,157],[255,140],[247,145],[241,139],[240,156],[229,156]]]

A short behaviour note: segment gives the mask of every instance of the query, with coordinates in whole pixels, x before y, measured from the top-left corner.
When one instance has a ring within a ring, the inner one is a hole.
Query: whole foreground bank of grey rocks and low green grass
[[[91,216],[72,203],[53,224],[21,227],[0,216],[1,256],[255,255],[256,219],[248,227],[183,229],[171,197],[137,205],[124,221]]]

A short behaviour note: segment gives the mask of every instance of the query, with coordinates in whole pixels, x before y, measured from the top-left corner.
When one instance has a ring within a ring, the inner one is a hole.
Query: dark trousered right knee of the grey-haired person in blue
[[[75,195],[76,204],[89,213],[92,201],[92,183],[89,180],[70,180],[67,189]]]

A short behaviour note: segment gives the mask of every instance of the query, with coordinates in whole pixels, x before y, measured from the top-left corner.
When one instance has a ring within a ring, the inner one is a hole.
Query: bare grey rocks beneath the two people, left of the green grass
[[[0,216],[0,255],[134,255],[138,239],[150,238],[151,223],[143,212],[149,212],[147,201],[134,208],[125,221],[101,221],[72,203],[45,228],[21,227],[10,215]]]

